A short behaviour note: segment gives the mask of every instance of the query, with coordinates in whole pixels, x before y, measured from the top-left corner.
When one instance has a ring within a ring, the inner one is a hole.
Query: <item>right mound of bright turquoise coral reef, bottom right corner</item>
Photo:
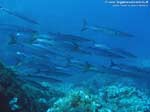
[[[108,86],[100,89],[99,97],[101,109],[108,112],[150,111],[150,99],[134,87]]]

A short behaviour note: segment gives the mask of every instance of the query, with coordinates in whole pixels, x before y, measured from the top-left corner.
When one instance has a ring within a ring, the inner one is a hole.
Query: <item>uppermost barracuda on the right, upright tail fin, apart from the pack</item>
[[[115,30],[109,27],[103,27],[103,26],[89,26],[87,21],[84,20],[83,22],[83,26],[81,29],[81,32],[87,31],[87,30],[91,30],[91,31],[96,31],[96,32],[100,32],[100,33],[104,33],[110,36],[116,36],[116,37],[134,37],[134,35],[126,33],[126,32],[122,32],[119,30]]]

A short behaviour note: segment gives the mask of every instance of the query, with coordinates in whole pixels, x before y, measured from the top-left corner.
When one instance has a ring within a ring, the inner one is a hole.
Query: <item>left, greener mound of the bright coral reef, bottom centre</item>
[[[99,107],[96,96],[82,90],[71,90],[58,99],[47,112],[96,112]]]

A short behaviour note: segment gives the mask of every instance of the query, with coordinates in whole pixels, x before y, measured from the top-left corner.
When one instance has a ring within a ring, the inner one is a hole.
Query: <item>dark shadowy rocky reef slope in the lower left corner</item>
[[[0,63],[0,112],[45,112],[63,93],[18,79],[15,71]]]

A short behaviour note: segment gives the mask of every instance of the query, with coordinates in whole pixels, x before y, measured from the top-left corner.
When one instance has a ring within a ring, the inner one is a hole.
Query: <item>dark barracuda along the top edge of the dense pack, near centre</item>
[[[93,42],[93,40],[90,40],[88,38],[77,36],[77,35],[72,35],[72,34],[49,32],[49,35],[56,41],[68,41],[68,42],[77,42],[77,43]]]

